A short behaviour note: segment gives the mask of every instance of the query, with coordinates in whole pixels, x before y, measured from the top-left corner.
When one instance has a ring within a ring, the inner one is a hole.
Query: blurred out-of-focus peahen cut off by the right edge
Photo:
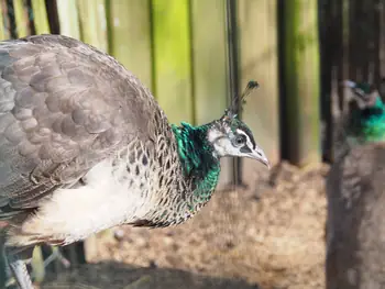
[[[369,84],[350,90],[344,146],[327,179],[327,289],[385,288],[385,104]]]

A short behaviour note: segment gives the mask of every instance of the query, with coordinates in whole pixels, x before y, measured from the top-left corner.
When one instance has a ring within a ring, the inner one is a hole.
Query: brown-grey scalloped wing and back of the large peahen
[[[76,40],[1,42],[0,73],[0,220],[34,208],[133,137],[152,137],[158,107],[150,92]]]

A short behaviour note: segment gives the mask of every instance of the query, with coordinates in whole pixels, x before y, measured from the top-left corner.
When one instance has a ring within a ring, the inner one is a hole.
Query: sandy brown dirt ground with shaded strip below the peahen
[[[43,288],[323,288],[328,167],[264,171],[246,189],[216,192],[186,224],[99,234],[87,244],[92,264]]]

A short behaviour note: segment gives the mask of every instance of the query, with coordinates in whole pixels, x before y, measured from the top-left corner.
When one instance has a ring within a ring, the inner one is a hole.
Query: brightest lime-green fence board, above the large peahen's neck
[[[194,122],[188,0],[152,0],[154,91],[172,123]]]

